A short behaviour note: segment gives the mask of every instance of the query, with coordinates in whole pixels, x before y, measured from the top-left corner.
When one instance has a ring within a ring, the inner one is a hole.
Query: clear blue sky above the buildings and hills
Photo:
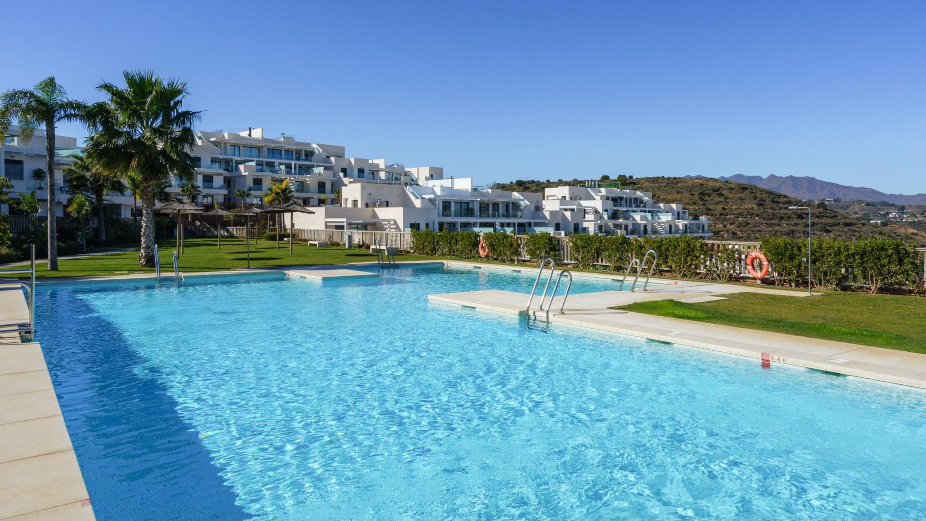
[[[477,182],[773,173],[926,192],[926,2],[71,0],[2,19],[0,90],[54,75],[94,101],[153,68],[189,82],[202,130]]]

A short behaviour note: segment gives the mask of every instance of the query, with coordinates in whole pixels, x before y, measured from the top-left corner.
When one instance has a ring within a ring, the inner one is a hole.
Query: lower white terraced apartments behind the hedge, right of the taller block
[[[470,179],[432,177],[415,185],[352,180],[342,189],[342,205],[314,210],[312,215],[298,215],[294,226],[517,234],[549,231],[556,235],[571,232],[632,237],[711,235],[707,217],[690,219],[682,205],[653,203],[649,192],[602,186],[550,188],[541,194],[480,190]]]

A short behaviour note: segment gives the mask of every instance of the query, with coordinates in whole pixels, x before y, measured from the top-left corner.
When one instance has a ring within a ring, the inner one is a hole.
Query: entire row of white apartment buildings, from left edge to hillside
[[[44,132],[36,131],[30,143],[15,135],[16,127],[10,133],[14,135],[4,140],[0,176],[13,181],[14,196],[35,190],[45,199]],[[60,135],[56,149],[61,189],[56,215],[63,216],[67,156],[81,149],[76,138]],[[269,138],[261,128],[199,131],[191,154],[199,165],[195,204],[261,205],[271,181],[289,179],[294,200],[315,212],[295,216],[296,228],[711,235],[707,217],[689,218],[682,205],[655,203],[649,192],[597,181],[544,193],[480,189],[469,178],[445,179],[442,167],[406,168],[385,159],[347,157],[344,146],[299,142],[287,135]],[[169,181],[168,192],[185,198],[181,180]],[[240,190],[244,198],[237,195]],[[335,192],[341,192],[340,202]],[[111,215],[131,217],[131,193],[106,193],[106,206]]]

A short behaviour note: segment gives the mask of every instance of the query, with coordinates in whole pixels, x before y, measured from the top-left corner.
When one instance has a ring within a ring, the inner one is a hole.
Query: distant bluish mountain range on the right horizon
[[[703,178],[704,176],[687,177]],[[842,199],[843,201],[886,201],[895,205],[926,205],[926,193],[917,193],[914,195],[884,193],[873,188],[846,186],[844,184],[811,177],[782,177],[772,174],[767,178],[763,178],[762,176],[744,176],[743,174],[736,174],[730,177],[721,176],[718,179],[753,184],[774,192],[790,195],[802,201]]]

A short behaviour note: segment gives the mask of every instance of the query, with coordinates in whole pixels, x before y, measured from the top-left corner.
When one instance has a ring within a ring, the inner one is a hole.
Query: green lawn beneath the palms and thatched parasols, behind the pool
[[[221,271],[246,266],[247,250],[243,239],[223,239],[220,250],[216,247],[215,239],[187,239],[185,245],[185,252],[180,257],[181,271]],[[158,247],[160,249],[161,271],[172,271],[172,254],[175,249],[175,242],[172,239],[158,241]],[[395,260],[398,262],[433,260],[433,257],[396,254]],[[251,242],[251,267],[322,266],[373,261],[376,261],[376,254],[370,254],[369,248],[346,249],[332,246],[317,248],[307,246],[304,242],[296,242],[293,246],[293,254],[290,255],[289,244],[281,242],[280,249],[277,250],[274,247],[274,242],[264,240],[261,240],[258,244]],[[36,278],[99,277],[154,273],[155,271],[154,268],[138,266],[137,251],[94,255],[77,259],[62,259],[58,261],[58,271],[48,271],[45,269],[46,265],[46,262],[36,263]],[[5,270],[22,268],[20,266],[0,269],[0,276]],[[16,278],[27,278],[29,276],[28,273],[10,273],[8,275]]]

